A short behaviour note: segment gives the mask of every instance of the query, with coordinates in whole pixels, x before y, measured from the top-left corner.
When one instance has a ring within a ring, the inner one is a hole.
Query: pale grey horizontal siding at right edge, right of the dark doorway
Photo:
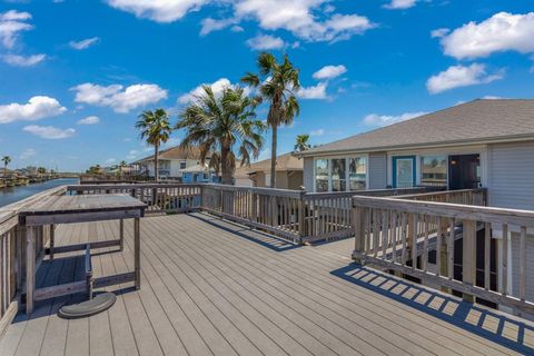
[[[534,210],[534,142],[490,146],[490,206]]]

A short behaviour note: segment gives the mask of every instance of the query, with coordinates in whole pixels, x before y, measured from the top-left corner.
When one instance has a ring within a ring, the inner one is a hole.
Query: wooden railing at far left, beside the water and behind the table
[[[18,310],[19,295],[26,276],[26,234],[19,226],[18,212],[34,201],[51,195],[65,194],[66,187],[52,188],[0,208],[0,335]],[[53,231],[40,228],[36,239],[37,264],[42,259],[44,245]]]

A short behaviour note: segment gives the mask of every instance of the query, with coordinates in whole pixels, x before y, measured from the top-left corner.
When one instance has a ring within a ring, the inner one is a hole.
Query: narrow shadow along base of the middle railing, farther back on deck
[[[263,233],[254,228],[244,227],[243,225],[238,225],[236,222],[225,220],[212,215],[207,215],[204,212],[194,212],[194,214],[188,214],[188,216],[199,219],[206,224],[215,226],[225,231],[228,231],[233,235],[245,238],[255,244],[258,244],[263,247],[267,247],[268,249],[274,250],[276,253],[283,253],[283,251],[301,247],[301,245],[289,243],[288,240],[276,237],[268,233]]]

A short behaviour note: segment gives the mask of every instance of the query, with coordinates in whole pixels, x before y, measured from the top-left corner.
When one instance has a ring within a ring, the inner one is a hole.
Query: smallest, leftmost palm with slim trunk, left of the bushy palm
[[[156,109],[155,111],[145,110],[138,117],[136,122],[141,134],[141,139],[145,139],[148,145],[154,146],[154,169],[156,181],[159,180],[159,148],[161,144],[167,142],[172,132],[169,122],[169,115],[164,109]]]

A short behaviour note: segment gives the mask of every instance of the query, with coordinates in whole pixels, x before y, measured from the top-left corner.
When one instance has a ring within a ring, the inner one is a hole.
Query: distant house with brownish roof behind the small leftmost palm
[[[186,168],[200,164],[200,152],[198,149],[182,149],[179,146],[165,149],[159,152],[159,176],[161,178],[181,179],[182,171]],[[154,155],[139,159],[132,165],[139,167],[140,174],[148,174],[155,177]]]

